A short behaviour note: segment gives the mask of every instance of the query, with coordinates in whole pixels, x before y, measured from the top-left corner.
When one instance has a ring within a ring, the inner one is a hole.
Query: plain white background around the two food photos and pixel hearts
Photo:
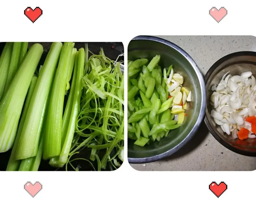
[[[137,35],[255,36],[252,2],[1,1],[0,41],[121,41],[126,50]],[[43,10],[34,24],[24,15],[27,7]],[[220,23],[209,15],[212,7],[228,10]],[[1,203],[245,203],[254,201],[256,174],[139,172],[126,161],[113,172],[0,172],[0,178]],[[27,181],[43,185],[34,198],[24,190]],[[209,190],[212,181],[228,185],[219,198]]]

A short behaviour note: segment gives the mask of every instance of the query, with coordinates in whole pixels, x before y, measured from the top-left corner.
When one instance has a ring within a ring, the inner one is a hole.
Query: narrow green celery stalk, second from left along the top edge
[[[5,91],[7,92],[9,86],[15,76],[18,66],[19,66],[19,59],[20,59],[20,50],[21,50],[22,42],[14,42],[13,43],[13,50],[12,50],[12,57],[9,65],[8,75],[5,83]]]

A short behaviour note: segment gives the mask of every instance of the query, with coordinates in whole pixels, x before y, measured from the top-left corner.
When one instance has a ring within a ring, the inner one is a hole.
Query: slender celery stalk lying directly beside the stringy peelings
[[[59,162],[63,165],[67,162],[69,152],[72,145],[72,140],[75,133],[76,119],[79,112],[79,103],[82,91],[82,77],[84,73],[84,61],[85,61],[85,52],[84,48],[79,49],[78,54],[78,65],[77,65],[77,78],[76,78],[76,86],[75,86],[75,94],[72,104],[72,111],[70,114],[69,127],[67,130],[67,135],[65,137],[65,142],[63,144],[63,148],[61,150],[61,154],[59,156]]]

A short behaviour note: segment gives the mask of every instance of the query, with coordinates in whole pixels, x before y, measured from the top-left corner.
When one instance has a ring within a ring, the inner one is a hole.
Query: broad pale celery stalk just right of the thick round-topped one
[[[25,119],[24,127],[20,135],[16,159],[26,159],[36,156],[42,125],[40,119],[45,113],[45,103],[48,99],[51,82],[55,73],[61,52],[62,43],[53,42],[40,69],[38,81],[28,109],[28,116]],[[38,134],[39,131],[39,134]]]

